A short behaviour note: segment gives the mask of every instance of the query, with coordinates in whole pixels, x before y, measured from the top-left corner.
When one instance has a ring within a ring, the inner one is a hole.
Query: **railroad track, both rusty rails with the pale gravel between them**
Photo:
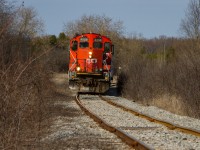
[[[79,95],[77,103],[101,127],[113,132],[135,149],[200,148],[198,131],[156,120],[113,102],[110,105],[111,100],[106,97]]]

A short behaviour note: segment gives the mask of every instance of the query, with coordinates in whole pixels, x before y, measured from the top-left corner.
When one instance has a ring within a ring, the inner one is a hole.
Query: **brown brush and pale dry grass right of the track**
[[[122,95],[145,105],[200,118],[200,52],[193,43],[186,42],[179,43],[173,57],[165,62],[155,54],[121,57],[126,63],[118,81]]]

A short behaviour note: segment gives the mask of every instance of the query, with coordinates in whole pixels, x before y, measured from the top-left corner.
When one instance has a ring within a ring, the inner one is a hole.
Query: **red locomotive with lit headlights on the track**
[[[110,87],[112,41],[103,35],[85,33],[70,40],[69,87],[104,93]]]

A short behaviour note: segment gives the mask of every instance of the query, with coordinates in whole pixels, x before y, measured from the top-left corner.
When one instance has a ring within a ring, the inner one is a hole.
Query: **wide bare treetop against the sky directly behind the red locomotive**
[[[123,34],[122,21],[114,22],[111,18],[99,15],[82,16],[80,20],[64,25],[67,36],[72,37],[76,33],[100,33],[109,37],[119,37]]]

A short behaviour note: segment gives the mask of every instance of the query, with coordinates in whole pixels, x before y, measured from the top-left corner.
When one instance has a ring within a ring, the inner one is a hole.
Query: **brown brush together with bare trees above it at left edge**
[[[0,0],[0,149],[38,147],[48,122],[51,91],[40,40],[42,22],[33,8]]]

